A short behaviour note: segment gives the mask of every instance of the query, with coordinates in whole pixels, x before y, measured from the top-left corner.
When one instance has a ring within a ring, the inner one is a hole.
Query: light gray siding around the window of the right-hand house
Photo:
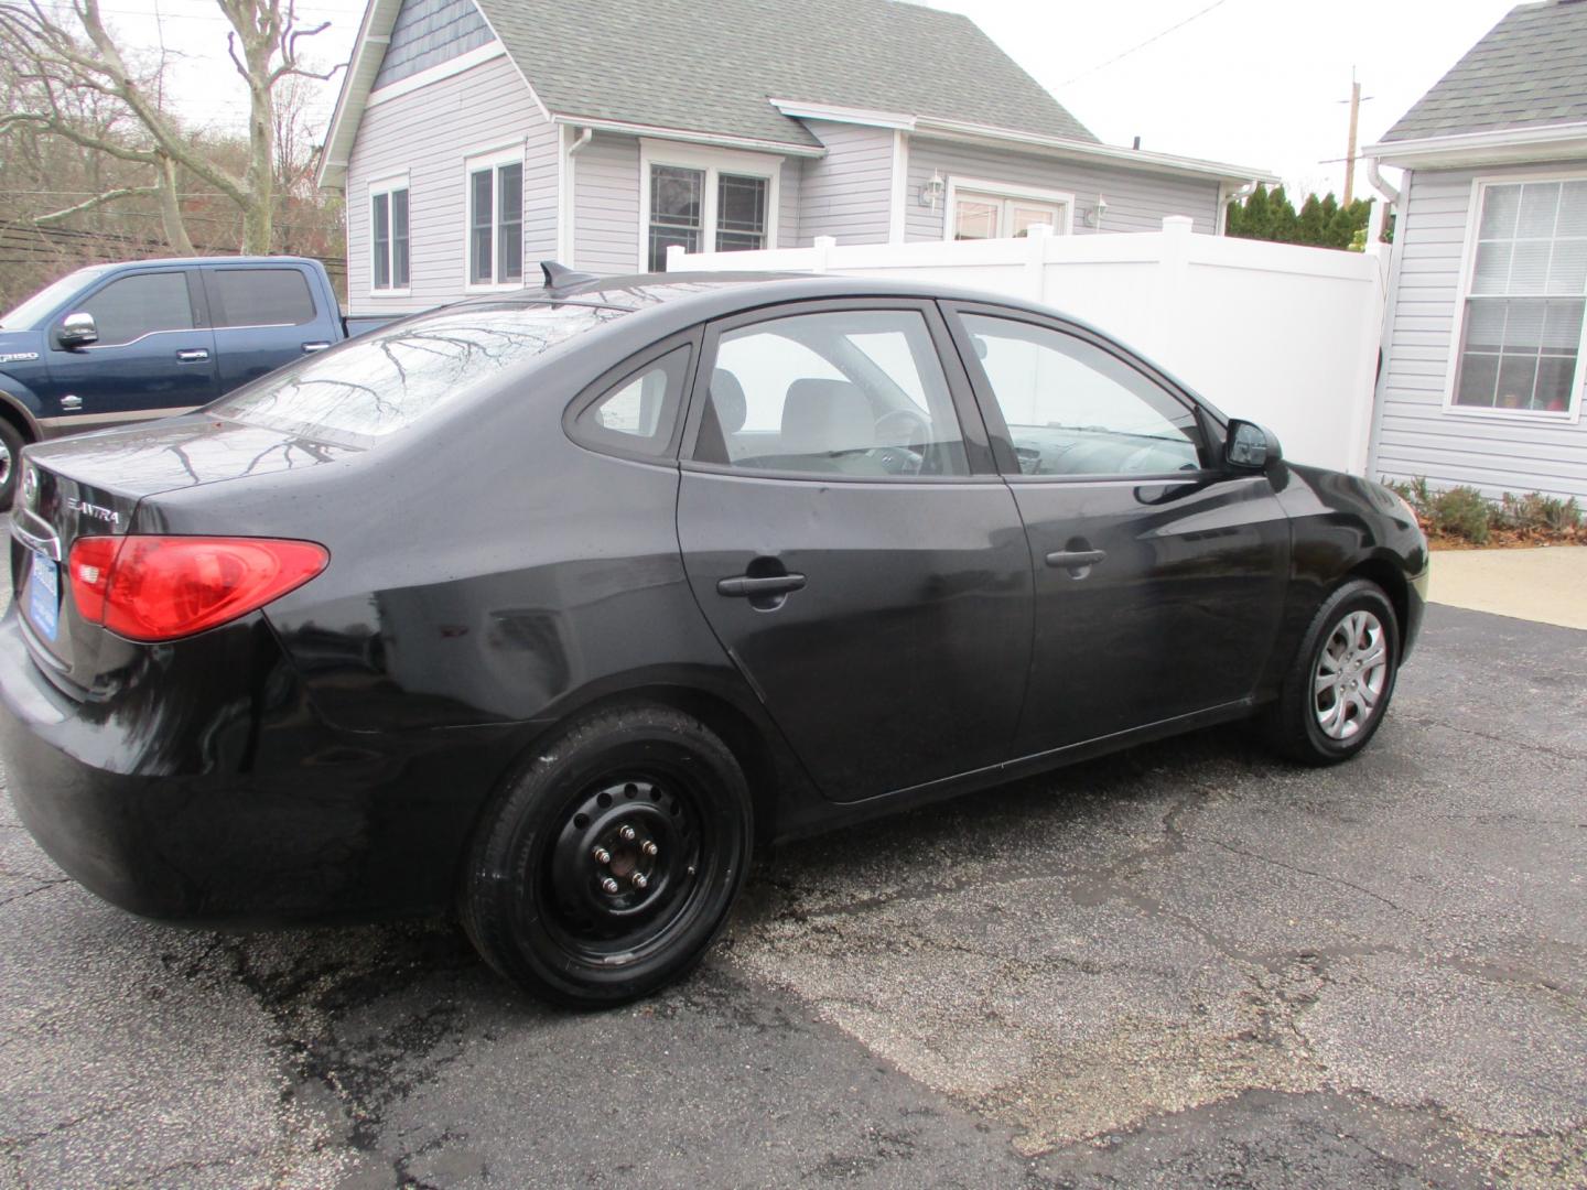
[[[1581,162],[1536,165],[1524,173],[1581,168]],[[1441,487],[1471,484],[1489,495],[1547,492],[1587,498],[1587,422],[1444,411],[1476,175],[1473,170],[1406,175],[1395,246],[1398,284],[1387,317],[1387,359],[1370,466],[1373,474],[1425,476]],[[1576,400],[1581,400],[1581,378]]]

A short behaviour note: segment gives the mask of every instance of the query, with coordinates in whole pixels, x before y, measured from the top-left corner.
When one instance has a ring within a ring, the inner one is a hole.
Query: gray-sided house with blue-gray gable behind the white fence
[[[689,251],[1220,230],[1260,170],[1101,144],[898,0],[371,0],[321,186],[376,314]]]

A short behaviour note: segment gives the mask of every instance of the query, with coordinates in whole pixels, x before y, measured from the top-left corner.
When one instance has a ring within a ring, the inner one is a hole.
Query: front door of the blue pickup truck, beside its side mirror
[[[98,341],[68,351],[59,330],[75,313],[94,316]],[[65,432],[213,401],[214,332],[195,270],[119,273],[62,311],[49,325],[49,381],[46,416]]]

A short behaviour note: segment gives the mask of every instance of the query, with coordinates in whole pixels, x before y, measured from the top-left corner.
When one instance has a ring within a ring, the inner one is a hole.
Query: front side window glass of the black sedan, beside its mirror
[[[1022,474],[1200,470],[1195,414],[1112,352],[1032,322],[984,314],[963,322]]]

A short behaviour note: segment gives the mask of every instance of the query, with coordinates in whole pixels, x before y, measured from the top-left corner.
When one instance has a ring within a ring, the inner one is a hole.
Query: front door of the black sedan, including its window
[[[951,321],[1030,539],[1017,749],[1249,698],[1289,578],[1271,479],[1225,470],[1216,422],[1103,336],[1000,306]]]

